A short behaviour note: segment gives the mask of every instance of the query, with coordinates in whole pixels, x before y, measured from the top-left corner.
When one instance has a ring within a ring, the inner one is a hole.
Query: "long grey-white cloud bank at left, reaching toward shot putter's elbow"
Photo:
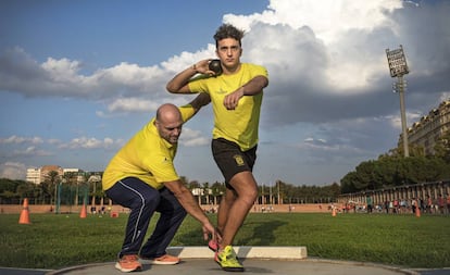
[[[80,61],[49,58],[38,64],[21,48],[7,50],[0,60],[0,89],[29,97],[109,99],[125,91],[127,96],[154,97],[165,93],[163,79],[168,77],[158,66],[140,67],[126,62],[85,76],[79,73]]]

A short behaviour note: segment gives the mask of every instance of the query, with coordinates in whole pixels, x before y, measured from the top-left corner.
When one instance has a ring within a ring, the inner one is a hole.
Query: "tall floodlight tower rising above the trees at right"
[[[408,148],[408,130],[407,130],[407,114],[404,109],[404,90],[407,83],[403,79],[403,75],[410,71],[408,68],[407,59],[404,57],[403,47],[400,45],[399,49],[391,50],[386,49],[386,55],[389,64],[389,71],[391,77],[397,77],[397,83],[393,84],[393,91],[400,96],[400,115],[401,115],[401,128],[403,137],[403,151],[404,157],[410,157],[410,150]]]

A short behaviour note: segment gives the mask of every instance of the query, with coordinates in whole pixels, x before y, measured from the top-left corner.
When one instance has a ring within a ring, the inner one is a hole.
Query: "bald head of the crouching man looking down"
[[[162,138],[170,143],[178,142],[182,134],[183,116],[178,108],[171,103],[162,104],[158,108],[154,125]]]

